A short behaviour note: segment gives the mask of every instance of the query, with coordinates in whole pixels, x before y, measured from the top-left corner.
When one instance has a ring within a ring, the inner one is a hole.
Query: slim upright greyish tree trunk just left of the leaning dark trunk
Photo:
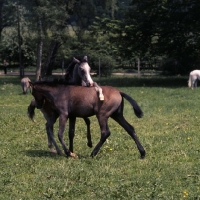
[[[42,20],[38,18],[38,47],[37,47],[37,66],[36,66],[36,81],[41,78],[41,66],[42,66]]]

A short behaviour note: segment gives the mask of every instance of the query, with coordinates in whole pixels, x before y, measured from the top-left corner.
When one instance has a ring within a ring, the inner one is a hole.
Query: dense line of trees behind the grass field
[[[0,59],[21,76],[36,66],[36,79],[80,55],[92,68],[186,73],[199,66],[199,10],[197,0],[0,0]]]

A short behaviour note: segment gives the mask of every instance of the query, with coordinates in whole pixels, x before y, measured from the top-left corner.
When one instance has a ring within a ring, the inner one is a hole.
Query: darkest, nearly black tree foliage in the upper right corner
[[[124,38],[129,55],[165,56],[182,71],[187,59],[192,68],[199,55],[199,2],[133,0],[131,5]]]

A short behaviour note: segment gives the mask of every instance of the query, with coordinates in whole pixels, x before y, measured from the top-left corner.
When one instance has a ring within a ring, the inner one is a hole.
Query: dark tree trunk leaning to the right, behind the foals
[[[52,75],[52,66],[56,58],[57,51],[60,47],[60,42],[52,40],[49,46],[48,56],[45,60],[44,66],[42,67],[41,77]]]

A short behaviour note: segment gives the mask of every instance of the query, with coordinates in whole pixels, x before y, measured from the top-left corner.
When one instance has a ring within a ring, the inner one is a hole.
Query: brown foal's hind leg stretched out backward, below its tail
[[[135,130],[133,128],[133,126],[131,126],[124,118],[124,116],[122,115],[113,115],[111,116],[116,122],[119,123],[119,125],[121,125],[125,130],[126,132],[133,138],[133,140],[135,141],[136,145],[137,145],[137,148],[140,152],[140,155],[141,155],[141,158],[144,158],[145,157],[145,150],[143,148],[143,146],[141,145],[136,133],[135,133]]]

